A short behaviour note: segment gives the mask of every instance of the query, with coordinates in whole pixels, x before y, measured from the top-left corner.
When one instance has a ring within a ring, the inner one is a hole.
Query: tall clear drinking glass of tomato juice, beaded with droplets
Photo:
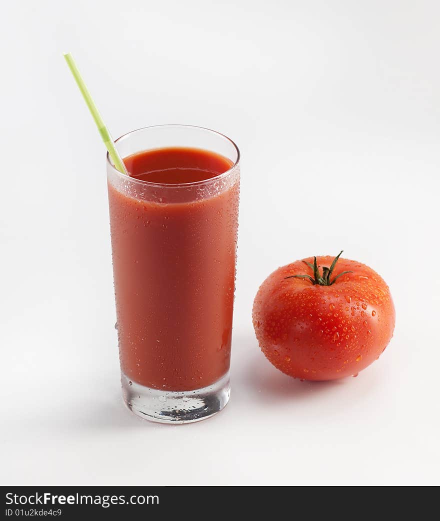
[[[199,127],[147,127],[116,141],[121,157],[157,148],[220,154],[217,177],[161,184],[107,156],[117,330],[125,403],[143,418],[197,421],[228,403],[240,152]]]

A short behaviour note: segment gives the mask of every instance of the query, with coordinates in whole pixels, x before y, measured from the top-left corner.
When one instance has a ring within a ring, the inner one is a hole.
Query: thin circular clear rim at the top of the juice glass
[[[125,173],[120,172],[117,168],[115,168],[115,165],[113,165],[111,163],[110,155],[107,152],[106,155],[107,155],[107,164],[108,164],[108,166],[119,177],[123,177],[123,178],[127,178],[128,177],[131,181],[137,182],[137,183],[142,184],[144,186],[156,187],[156,188],[157,187],[170,187],[170,188],[174,187],[174,188],[177,188],[177,187],[195,187],[195,186],[200,185],[200,184],[207,184],[207,183],[218,181],[219,179],[223,179],[225,177],[228,177],[228,175],[231,173],[231,171],[234,170],[234,168],[236,168],[237,165],[240,163],[240,149],[234,143],[234,141],[232,141],[231,138],[228,138],[227,135],[222,134],[221,132],[217,132],[217,130],[208,129],[206,127],[198,127],[197,125],[170,124],[170,125],[150,125],[148,127],[141,127],[139,129],[131,130],[130,132],[127,132],[125,134],[120,135],[119,138],[117,138],[115,140],[115,144],[118,143],[118,141],[121,140],[121,139],[128,138],[131,134],[134,134],[135,132],[140,132],[141,130],[155,129],[155,128],[165,128],[165,127],[168,127],[168,128],[170,128],[170,127],[179,127],[179,128],[188,128],[188,129],[206,130],[207,132],[211,132],[212,134],[217,134],[219,137],[224,138],[225,140],[229,141],[232,144],[232,146],[235,148],[235,151],[237,153],[237,158],[236,158],[234,164],[230,168],[228,168],[228,170],[220,173],[218,176],[210,177],[209,179],[204,179],[202,181],[193,181],[191,183],[154,183],[152,181],[144,181],[143,179],[137,179],[135,177],[127,176],[127,175],[125,175]],[[148,150],[148,148],[146,148],[145,150]],[[202,149],[200,149],[200,150],[202,150]],[[139,152],[142,152],[142,151],[139,151]]]

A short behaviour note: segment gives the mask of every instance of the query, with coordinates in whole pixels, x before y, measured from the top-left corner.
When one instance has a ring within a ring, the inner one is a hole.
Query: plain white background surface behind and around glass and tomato
[[[426,1],[8,2],[0,33],[4,485],[440,483],[440,5]],[[105,153],[186,123],[242,152],[232,398],[163,426],[119,386]],[[395,336],[358,378],[299,382],[251,307],[313,254],[388,282]]]

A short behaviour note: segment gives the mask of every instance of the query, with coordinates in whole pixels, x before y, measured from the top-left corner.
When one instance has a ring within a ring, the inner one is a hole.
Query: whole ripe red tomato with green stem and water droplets
[[[258,343],[286,375],[355,376],[393,336],[394,304],[385,281],[341,253],[278,268],[257,292],[252,317]]]

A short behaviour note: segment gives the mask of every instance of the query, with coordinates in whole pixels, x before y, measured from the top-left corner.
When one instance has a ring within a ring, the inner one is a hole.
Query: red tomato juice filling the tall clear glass
[[[232,166],[194,148],[161,148],[124,162],[131,177],[162,184],[211,179]],[[134,198],[110,183],[108,192],[123,373],[156,389],[209,386],[230,362],[238,178],[191,201],[187,191],[171,203]]]

